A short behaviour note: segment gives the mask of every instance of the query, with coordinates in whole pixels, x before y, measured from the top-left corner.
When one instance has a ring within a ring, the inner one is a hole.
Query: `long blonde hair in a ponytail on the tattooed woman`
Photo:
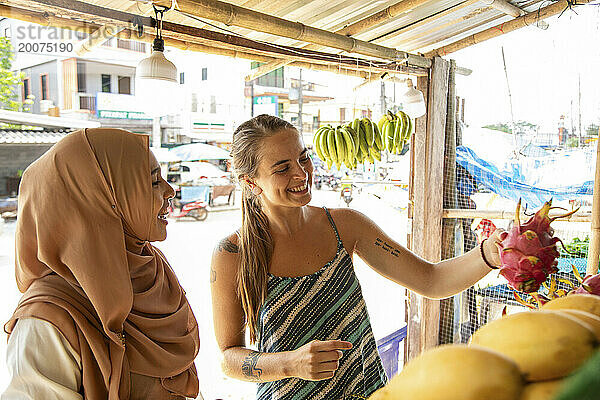
[[[262,114],[242,123],[233,133],[231,156],[237,179],[255,178],[262,157],[262,141],[282,130],[296,130],[289,122]],[[260,198],[242,183],[242,227],[239,232],[240,266],[237,292],[246,315],[250,343],[258,336],[258,312],[267,295],[273,239]]]

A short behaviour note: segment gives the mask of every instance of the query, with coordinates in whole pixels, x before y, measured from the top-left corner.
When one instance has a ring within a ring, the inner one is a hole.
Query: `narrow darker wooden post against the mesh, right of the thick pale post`
[[[457,208],[456,197],[456,62],[450,60],[448,102],[446,105],[446,138],[444,145],[444,209]],[[442,260],[455,257],[457,220],[442,221]],[[454,298],[440,300],[439,343],[454,342]]]

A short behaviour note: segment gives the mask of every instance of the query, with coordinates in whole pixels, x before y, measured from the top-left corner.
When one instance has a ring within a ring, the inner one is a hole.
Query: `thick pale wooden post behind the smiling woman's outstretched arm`
[[[414,139],[412,250],[433,262],[440,261],[442,249],[444,137],[448,101],[448,62],[436,57],[429,82],[419,78],[417,88],[427,91],[426,123],[419,118]],[[425,129],[423,129],[425,128]],[[439,301],[409,292],[408,361],[438,344]]]

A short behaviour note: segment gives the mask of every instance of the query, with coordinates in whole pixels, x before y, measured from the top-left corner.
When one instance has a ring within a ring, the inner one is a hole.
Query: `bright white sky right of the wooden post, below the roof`
[[[548,19],[548,30],[525,27],[446,56],[473,70],[457,78],[467,124],[510,121],[502,47],[515,120],[555,132],[561,115],[571,125],[573,102],[577,125],[580,76],[582,126],[600,122],[600,5],[579,6],[576,12]]]

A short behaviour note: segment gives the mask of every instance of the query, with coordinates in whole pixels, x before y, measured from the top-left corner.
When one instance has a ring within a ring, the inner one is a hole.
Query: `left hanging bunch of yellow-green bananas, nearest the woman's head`
[[[339,170],[342,164],[355,169],[359,163],[381,161],[384,150],[383,137],[379,128],[368,118],[356,118],[347,125],[322,126],[313,138],[313,145],[320,159],[333,164]]]

